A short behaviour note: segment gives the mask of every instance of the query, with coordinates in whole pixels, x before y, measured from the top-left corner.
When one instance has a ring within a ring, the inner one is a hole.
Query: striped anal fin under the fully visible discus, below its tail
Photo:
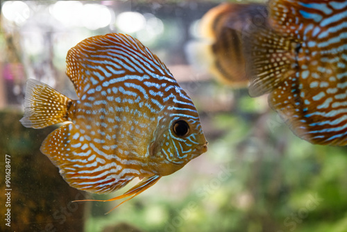
[[[124,187],[135,176],[123,175],[114,156],[97,149],[72,123],[60,126],[42,142],[41,151],[59,167],[71,187],[108,193]]]

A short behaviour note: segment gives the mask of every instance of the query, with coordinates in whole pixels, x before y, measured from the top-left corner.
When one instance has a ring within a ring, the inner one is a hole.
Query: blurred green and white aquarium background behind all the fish
[[[296,138],[266,96],[252,99],[209,73],[197,25],[219,3],[1,1],[0,231],[347,231],[346,147]],[[39,150],[53,128],[25,129],[18,120],[26,79],[76,96],[65,75],[68,49],[109,32],[135,36],[169,67],[198,108],[209,150],[105,215],[119,202],[71,201],[125,190],[70,188]],[[6,154],[11,228],[3,220]]]

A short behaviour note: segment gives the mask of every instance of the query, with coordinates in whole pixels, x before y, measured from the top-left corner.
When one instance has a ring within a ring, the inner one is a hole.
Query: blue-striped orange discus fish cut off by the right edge
[[[270,0],[269,26],[248,36],[252,97],[269,94],[298,137],[347,144],[347,1]]]

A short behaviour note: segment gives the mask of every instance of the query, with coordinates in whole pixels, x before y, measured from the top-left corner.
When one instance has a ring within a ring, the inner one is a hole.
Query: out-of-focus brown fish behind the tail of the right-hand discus
[[[263,4],[222,3],[201,19],[203,38],[211,41],[210,72],[232,88],[247,88],[249,80],[244,60],[244,37],[268,17]]]

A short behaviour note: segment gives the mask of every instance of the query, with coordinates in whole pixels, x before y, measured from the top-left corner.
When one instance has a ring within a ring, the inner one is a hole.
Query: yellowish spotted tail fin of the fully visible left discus
[[[25,113],[20,122],[28,128],[42,129],[68,121],[67,110],[71,103],[71,99],[49,85],[29,79],[26,82]]]

